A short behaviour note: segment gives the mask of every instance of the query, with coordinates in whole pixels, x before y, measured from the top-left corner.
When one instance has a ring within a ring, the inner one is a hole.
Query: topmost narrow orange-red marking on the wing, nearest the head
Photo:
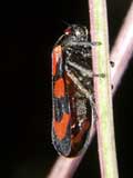
[[[59,61],[59,57],[62,55],[61,46],[57,46],[52,52],[52,75],[55,76],[57,72],[57,63]]]

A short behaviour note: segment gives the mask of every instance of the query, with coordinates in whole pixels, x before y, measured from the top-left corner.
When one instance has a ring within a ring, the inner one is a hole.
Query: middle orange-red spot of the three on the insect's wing
[[[60,78],[55,81],[53,95],[57,98],[64,97],[64,80],[62,78]]]

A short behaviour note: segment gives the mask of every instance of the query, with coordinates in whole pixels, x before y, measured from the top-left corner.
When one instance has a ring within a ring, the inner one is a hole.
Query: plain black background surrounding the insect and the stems
[[[45,3],[45,4],[43,4]],[[44,178],[58,155],[51,145],[51,50],[69,23],[88,26],[86,0],[20,2],[0,14],[0,177]],[[109,1],[111,47],[130,0]],[[117,59],[119,60],[119,59]],[[119,71],[117,71],[119,72]],[[121,178],[132,174],[133,62],[114,96]],[[75,176],[99,178],[96,139]]]

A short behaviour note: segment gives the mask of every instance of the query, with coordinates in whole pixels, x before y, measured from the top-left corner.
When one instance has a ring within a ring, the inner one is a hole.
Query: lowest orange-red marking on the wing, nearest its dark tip
[[[53,121],[53,128],[59,140],[62,140],[66,136],[66,129],[69,122],[70,122],[69,113],[63,113],[61,121],[57,120]]]

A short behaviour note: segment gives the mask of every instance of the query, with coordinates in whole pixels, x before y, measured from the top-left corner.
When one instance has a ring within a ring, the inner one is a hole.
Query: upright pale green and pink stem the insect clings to
[[[98,145],[102,178],[117,178],[115,155],[112,93],[109,63],[109,36],[105,0],[89,0],[91,40],[102,42],[92,49],[94,73],[105,73],[105,78],[94,78],[94,93],[98,111]]]

